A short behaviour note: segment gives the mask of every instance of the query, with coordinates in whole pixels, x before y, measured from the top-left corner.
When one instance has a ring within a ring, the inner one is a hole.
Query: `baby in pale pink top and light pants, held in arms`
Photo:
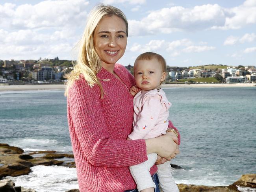
[[[137,87],[130,89],[130,93],[135,95],[134,130],[128,135],[128,140],[154,138],[166,134],[171,103],[168,102],[165,92],[160,88],[165,80],[165,71],[165,59],[159,54],[146,52],[135,60],[134,77]],[[148,154],[147,161],[130,166],[130,172],[139,191],[154,192],[156,185],[152,181],[149,170],[156,160],[157,154],[151,153]],[[159,185],[163,192],[178,192],[179,189],[171,175],[170,164],[170,161],[167,161],[158,165],[156,173]]]

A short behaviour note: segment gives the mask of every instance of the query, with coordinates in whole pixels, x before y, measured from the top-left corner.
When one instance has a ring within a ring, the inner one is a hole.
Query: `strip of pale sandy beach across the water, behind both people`
[[[163,84],[161,87],[182,87],[182,88],[218,88],[218,87],[255,87],[256,83],[234,83],[234,84]],[[64,90],[65,85],[44,84],[44,85],[0,85],[0,91],[20,90]]]

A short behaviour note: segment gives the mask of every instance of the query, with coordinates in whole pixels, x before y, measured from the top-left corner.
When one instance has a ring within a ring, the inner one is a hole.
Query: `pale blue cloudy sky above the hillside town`
[[[0,0],[0,59],[76,60],[98,3],[128,19],[124,66],[147,51],[169,66],[256,65],[256,0]]]

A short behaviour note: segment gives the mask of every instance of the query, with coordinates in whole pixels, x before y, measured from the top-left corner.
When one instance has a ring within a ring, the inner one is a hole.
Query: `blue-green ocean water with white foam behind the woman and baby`
[[[176,183],[221,186],[256,173],[256,87],[165,88],[169,119],[181,134],[172,160]],[[71,153],[66,98],[61,90],[0,92],[0,143],[24,151]],[[35,166],[13,179],[37,192],[78,188],[76,169]]]

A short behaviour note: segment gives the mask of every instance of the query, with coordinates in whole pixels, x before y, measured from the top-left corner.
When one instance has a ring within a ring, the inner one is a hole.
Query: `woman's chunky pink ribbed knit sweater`
[[[80,75],[69,90],[67,116],[80,192],[123,192],[136,188],[129,166],[147,160],[145,140],[129,140],[132,132],[134,77],[116,64],[114,72],[98,72],[104,89],[87,85]],[[124,85],[125,84],[125,85]],[[150,173],[156,172],[153,166]]]

